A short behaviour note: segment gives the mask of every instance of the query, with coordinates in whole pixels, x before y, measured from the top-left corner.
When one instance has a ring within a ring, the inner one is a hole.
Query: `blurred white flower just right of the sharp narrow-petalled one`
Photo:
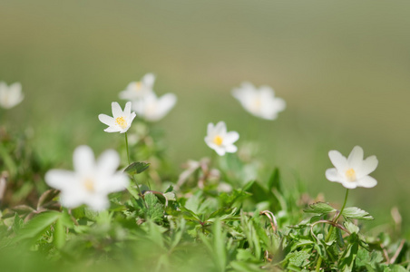
[[[148,93],[142,99],[133,102],[132,109],[146,121],[159,121],[177,102],[173,93],[166,93],[157,97],[154,92]]]

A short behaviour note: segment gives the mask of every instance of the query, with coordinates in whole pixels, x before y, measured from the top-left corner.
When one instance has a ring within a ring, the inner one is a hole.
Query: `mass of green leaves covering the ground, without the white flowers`
[[[340,213],[300,180],[285,186],[277,168],[247,180],[267,168],[251,148],[173,175],[161,132],[132,133],[132,186],[95,212],[61,207],[44,184],[52,166],[2,129],[1,271],[409,271],[409,243],[394,229],[366,233],[365,210]]]

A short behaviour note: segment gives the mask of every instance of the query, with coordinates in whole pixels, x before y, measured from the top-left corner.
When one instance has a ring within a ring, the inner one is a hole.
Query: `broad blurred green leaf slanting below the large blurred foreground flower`
[[[36,238],[44,233],[50,225],[62,216],[62,213],[57,211],[46,211],[34,217],[20,229],[15,237],[15,242],[26,238]]]

